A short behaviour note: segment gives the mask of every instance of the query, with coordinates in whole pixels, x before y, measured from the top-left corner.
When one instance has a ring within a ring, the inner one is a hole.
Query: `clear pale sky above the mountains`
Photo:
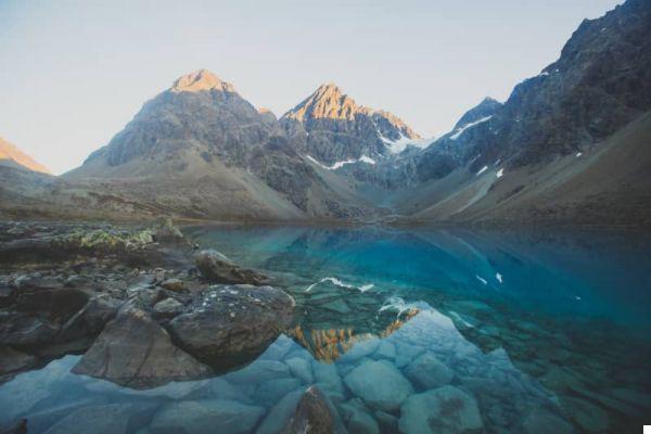
[[[69,170],[199,68],[278,116],[320,84],[441,135],[622,0],[0,0],[0,137]]]

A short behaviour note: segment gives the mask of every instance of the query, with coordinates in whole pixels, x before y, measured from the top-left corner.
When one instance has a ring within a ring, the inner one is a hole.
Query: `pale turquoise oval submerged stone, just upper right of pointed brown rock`
[[[344,378],[346,386],[371,407],[391,411],[413,393],[411,383],[386,360],[362,362]]]

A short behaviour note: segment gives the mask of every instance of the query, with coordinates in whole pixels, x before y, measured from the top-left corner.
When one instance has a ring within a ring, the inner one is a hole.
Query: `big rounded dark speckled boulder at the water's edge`
[[[212,286],[169,323],[175,342],[213,367],[256,357],[292,319],[294,299],[271,286]]]

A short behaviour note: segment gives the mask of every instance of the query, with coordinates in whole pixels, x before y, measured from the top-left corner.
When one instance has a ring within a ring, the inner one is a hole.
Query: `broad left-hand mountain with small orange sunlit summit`
[[[205,69],[177,79],[68,181],[183,216],[219,219],[349,218],[363,201],[335,191],[296,152],[268,111]]]

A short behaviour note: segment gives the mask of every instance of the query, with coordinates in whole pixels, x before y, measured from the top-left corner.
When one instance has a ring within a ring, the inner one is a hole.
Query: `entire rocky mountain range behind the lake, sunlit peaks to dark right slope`
[[[648,225],[650,74],[651,2],[628,0],[585,21],[505,103],[486,98],[420,149],[404,122],[333,84],[277,119],[201,69],[81,167],[14,178],[38,194],[5,177],[4,202],[52,209],[63,194],[72,208],[229,220]]]

